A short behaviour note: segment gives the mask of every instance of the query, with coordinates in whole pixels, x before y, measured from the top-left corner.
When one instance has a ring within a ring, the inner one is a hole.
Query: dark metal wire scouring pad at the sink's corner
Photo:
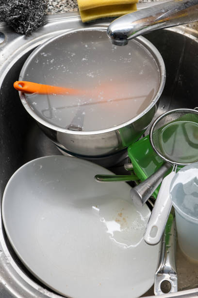
[[[0,21],[26,36],[45,24],[46,0],[0,0]]]

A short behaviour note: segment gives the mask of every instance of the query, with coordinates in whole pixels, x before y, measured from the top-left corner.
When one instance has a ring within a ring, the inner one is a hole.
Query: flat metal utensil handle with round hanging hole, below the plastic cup
[[[172,215],[172,214],[170,214]],[[154,293],[155,295],[162,295],[163,292],[163,283],[167,281],[170,285],[170,290],[168,293],[175,293],[178,291],[178,275],[176,268],[176,223],[175,218],[167,227],[170,232],[166,235],[166,232],[163,236],[161,256],[159,259],[159,264],[157,271],[155,273],[155,282],[154,282]],[[165,283],[165,285],[167,285]]]

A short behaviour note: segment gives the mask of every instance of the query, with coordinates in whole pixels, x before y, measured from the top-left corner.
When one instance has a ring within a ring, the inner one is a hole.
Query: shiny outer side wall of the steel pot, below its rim
[[[23,95],[21,99],[23,100]],[[82,158],[105,157],[125,149],[135,142],[147,130],[156,111],[157,105],[154,104],[141,118],[134,120],[134,123],[126,124],[123,128],[116,129],[115,127],[113,131],[95,134],[85,134],[84,131],[81,131],[80,134],[75,130],[70,130],[72,133],[57,131],[40,122],[38,125],[54,144],[68,154]]]

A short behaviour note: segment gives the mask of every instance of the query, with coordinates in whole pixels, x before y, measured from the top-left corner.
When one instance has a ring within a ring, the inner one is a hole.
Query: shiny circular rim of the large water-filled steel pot
[[[32,59],[32,56],[37,54],[38,52],[40,52],[46,45],[48,45],[49,43],[51,43],[54,40],[59,39],[60,37],[64,37],[67,36],[71,33],[74,32],[78,32],[78,31],[106,31],[108,26],[90,26],[90,27],[86,27],[86,28],[80,28],[80,29],[72,29],[69,30],[65,33],[59,34],[56,37],[52,37],[49,38],[49,40],[47,40],[46,42],[42,43],[40,46],[38,46],[35,50],[33,50],[33,52],[31,53],[31,55],[27,58],[27,60],[25,61],[20,75],[19,75],[19,80],[23,80],[24,74],[26,72],[26,67],[29,64],[29,61]],[[76,134],[76,135],[97,135],[97,134],[102,134],[102,133],[107,133],[107,132],[112,132],[115,130],[119,130],[122,129],[132,123],[134,123],[136,120],[140,119],[142,116],[144,116],[148,111],[151,110],[151,108],[157,103],[158,99],[160,98],[163,90],[164,90],[164,86],[165,86],[165,77],[166,77],[166,73],[165,73],[165,63],[164,60],[160,54],[160,52],[157,50],[157,48],[145,37],[142,36],[138,36],[135,37],[134,40],[137,40],[138,42],[141,43],[141,45],[143,45],[148,51],[149,53],[154,57],[155,62],[159,68],[159,75],[160,75],[160,83],[159,83],[159,87],[158,90],[154,96],[154,98],[152,99],[152,101],[150,102],[150,104],[147,106],[147,108],[142,111],[141,113],[139,113],[137,116],[133,117],[132,119],[121,123],[117,126],[108,128],[108,129],[103,129],[103,130],[90,130],[90,131],[76,131],[76,130],[68,130],[68,129],[64,129],[58,126],[55,126],[49,122],[47,122],[46,120],[44,120],[43,118],[39,117],[31,108],[31,106],[29,105],[28,101],[26,100],[26,97],[24,95],[23,92],[19,91],[19,96],[21,99],[21,102],[24,106],[24,108],[26,109],[26,111],[40,124],[48,127],[49,129],[52,130],[56,130],[59,132],[64,132],[67,134]]]

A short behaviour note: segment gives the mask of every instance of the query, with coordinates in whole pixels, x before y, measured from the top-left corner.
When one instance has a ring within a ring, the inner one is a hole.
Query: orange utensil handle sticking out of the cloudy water
[[[27,81],[16,81],[14,88],[24,93],[39,93],[39,94],[70,94],[77,95],[83,94],[84,91],[72,88],[64,88],[50,85],[43,85]]]

